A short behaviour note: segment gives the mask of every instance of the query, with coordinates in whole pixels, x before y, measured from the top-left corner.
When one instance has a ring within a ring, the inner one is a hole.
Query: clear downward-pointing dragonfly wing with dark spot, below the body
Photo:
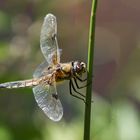
[[[58,99],[55,86],[38,85],[33,88],[35,100],[44,113],[53,121],[59,121],[63,116],[63,107]]]

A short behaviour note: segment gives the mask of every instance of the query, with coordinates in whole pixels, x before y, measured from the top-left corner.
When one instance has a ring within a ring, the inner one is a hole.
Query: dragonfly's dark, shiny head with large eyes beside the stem
[[[73,70],[75,73],[81,75],[86,72],[86,64],[84,62],[75,61],[73,62]]]

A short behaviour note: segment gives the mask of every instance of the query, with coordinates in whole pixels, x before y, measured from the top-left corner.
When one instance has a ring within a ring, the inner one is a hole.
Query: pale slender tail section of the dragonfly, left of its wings
[[[32,87],[36,86],[38,83],[34,79],[23,80],[23,81],[14,81],[14,82],[6,82],[0,84],[0,88],[22,88],[22,87]]]

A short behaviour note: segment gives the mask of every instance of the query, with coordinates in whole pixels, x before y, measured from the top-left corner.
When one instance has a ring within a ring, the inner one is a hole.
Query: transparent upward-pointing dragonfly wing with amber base
[[[41,28],[40,47],[49,65],[60,62],[60,50],[57,43],[57,21],[52,14],[47,14]]]

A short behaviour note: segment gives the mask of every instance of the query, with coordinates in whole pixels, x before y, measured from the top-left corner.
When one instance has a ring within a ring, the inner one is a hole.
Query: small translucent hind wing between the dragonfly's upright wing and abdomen
[[[40,78],[47,72],[48,63],[45,61],[41,63],[34,71],[33,77]]]

